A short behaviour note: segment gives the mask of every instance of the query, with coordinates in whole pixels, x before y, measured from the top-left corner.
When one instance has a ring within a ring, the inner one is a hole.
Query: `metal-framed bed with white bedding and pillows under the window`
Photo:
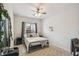
[[[44,38],[44,37],[24,37],[24,42],[25,45],[27,47],[27,52],[29,52],[29,49],[31,46],[35,46],[35,45],[41,45],[41,47],[43,48],[44,46],[48,45],[48,39]]]

